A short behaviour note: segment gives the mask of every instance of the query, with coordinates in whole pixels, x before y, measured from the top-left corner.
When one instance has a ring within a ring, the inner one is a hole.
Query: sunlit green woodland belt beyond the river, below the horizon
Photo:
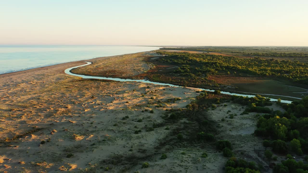
[[[174,73],[189,78],[206,78],[209,74],[235,74],[279,77],[308,84],[308,63],[277,59],[237,58],[233,56],[159,52],[167,55],[161,62],[180,66]]]

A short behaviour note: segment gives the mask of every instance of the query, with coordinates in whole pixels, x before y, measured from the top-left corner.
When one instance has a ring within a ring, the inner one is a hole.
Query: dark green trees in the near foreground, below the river
[[[285,109],[284,112],[265,107],[273,103],[260,95],[254,98],[231,96],[231,100],[248,106],[242,114],[265,113],[259,115],[254,134],[265,139],[263,142],[265,149],[270,147],[274,153],[286,155],[286,160],[274,166],[274,173],[308,173],[308,97],[291,104],[281,103],[278,99],[277,104]],[[268,160],[274,159],[272,155],[270,150],[265,152]],[[306,156],[303,157],[304,155]],[[302,157],[304,161],[296,161],[293,156]],[[226,163],[226,172],[256,172],[251,170],[248,164],[238,166],[233,160],[231,158]]]

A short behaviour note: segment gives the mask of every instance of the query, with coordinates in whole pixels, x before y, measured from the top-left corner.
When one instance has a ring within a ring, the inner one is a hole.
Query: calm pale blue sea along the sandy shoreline
[[[97,57],[131,54],[148,46],[0,46],[0,74]]]

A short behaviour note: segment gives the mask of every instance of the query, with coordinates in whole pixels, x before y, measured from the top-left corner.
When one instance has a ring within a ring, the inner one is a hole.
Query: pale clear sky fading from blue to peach
[[[307,0],[2,0],[0,45],[308,46]]]

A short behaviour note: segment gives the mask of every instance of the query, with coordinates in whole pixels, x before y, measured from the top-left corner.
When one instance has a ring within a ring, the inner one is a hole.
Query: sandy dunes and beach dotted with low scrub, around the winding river
[[[92,73],[125,78],[153,68],[145,59],[154,55],[151,51],[87,61],[101,66],[101,71]],[[197,90],[81,79],[64,73],[82,64],[69,62],[0,75],[0,171],[223,172],[227,158],[213,145],[162,143],[189,131],[185,124],[197,125],[187,119],[176,123],[163,119],[165,109],[185,108],[199,95]],[[91,73],[90,65],[82,68]],[[175,98],[179,99],[168,102]],[[222,113],[239,114],[245,107],[219,106],[207,113],[219,127],[217,139],[232,141],[234,152],[244,151],[245,156],[264,163],[253,151],[253,147],[262,148],[261,139],[251,135],[255,114],[221,122]],[[235,135],[246,143],[234,140]],[[202,152],[209,157],[201,158]],[[167,159],[160,159],[162,154]],[[141,168],[144,162],[150,164],[146,169]]]

